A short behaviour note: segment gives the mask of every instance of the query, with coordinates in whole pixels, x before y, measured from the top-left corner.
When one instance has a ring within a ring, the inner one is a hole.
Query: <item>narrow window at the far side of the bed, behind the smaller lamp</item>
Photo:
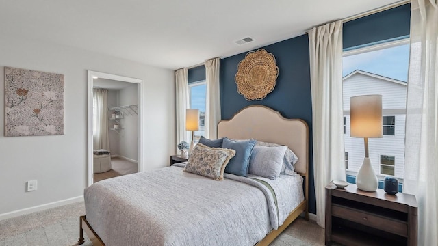
[[[199,131],[194,132],[194,142],[197,143],[205,135],[205,98],[207,84],[205,81],[189,83],[190,109],[199,109]]]

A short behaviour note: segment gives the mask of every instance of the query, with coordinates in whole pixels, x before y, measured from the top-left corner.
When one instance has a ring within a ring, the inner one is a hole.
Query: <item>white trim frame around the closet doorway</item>
[[[93,128],[93,104],[92,104],[92,92],[93,92],[93,77],[98,77],[99,79],[112,79],[116,81],[123,81],[123,82],[129,82],[129,83],[137,83],[138,84],[138,165],[137,170],[138,172],[142,172],[143,170],[143,146],[144,146],[144,136],[143,136],[143,130],[140,126],[143,125],[143,110],[144,110],[144,85],[142,79],[136,79],[131,77],[125,77],[120,76],[116,74],[108,74],[105,72],[96,72],[92,70],[88,70],[88,186],[93,184],[93,134],[92,134],[92,128]]]

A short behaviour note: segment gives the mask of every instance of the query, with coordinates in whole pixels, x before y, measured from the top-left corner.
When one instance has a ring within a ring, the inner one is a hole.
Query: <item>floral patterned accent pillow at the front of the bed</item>
[[[224,180],[225,167],[233,156],[235,156],[235,150],[210,148],[198,143],[194,146],[184,171],[214,180]]]

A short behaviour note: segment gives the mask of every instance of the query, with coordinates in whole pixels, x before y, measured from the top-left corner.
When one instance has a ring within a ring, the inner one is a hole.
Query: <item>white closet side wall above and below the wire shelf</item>
[[[136,105],[137,104],[137,84],[125,87],[118,92],[119,105]],[[138,126],[138,115],[129,115],[125,113],[122,122],[123,130],[120,132],[120,156],[127,157],[132,160],[137,161],[138,153],[138,139],[137,139],[137,126]]]

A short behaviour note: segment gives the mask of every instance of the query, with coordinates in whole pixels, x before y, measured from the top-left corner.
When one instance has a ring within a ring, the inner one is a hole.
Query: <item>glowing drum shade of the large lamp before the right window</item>
[[[350,136],[382,137],[382,95],[350,98]]]

